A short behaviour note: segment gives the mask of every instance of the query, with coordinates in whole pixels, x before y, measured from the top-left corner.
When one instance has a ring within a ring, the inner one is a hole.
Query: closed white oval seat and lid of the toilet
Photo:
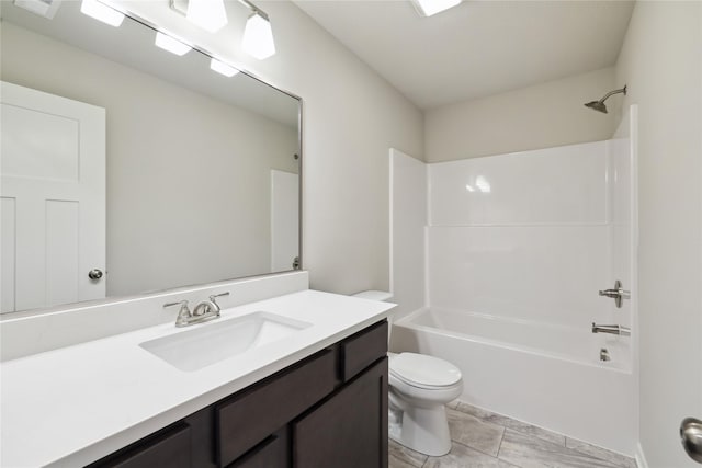
[[[461,370],[453,364],[416,353],[392,356],[389,374],[405,385],[426,390],[446,390],[462,380]]]

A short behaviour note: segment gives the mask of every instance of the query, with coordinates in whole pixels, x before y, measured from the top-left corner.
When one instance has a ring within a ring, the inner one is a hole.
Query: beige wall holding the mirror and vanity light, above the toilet
[[[212,35],[168,2],[120,2],[303,98],[303,262],[312,287],[387,290],[387,151],[422,153],[421,112],[290,1],[261,5],[278,50],[262,61],[240,50],[244,23]]]

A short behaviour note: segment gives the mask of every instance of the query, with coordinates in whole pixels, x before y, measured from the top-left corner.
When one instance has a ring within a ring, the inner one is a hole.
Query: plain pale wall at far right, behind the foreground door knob
[[[639,104],[641,444],[648,467],[699,466],[702,418],[702,3],[637,2],[616,65]]]

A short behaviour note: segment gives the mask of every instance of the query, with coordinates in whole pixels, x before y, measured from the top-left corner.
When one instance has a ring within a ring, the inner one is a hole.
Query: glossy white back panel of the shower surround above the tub
[[[615,246],[625,240],[614,237],[612,220],[623,205],[614,196],[623,184],[615,160],[623,158],[611,147],[597,141],[429,164],[427,304],[556,335],[562,328],[590,336],[592,322],[630,327],[629,304],[616,309],[598,294],[615,279],[630,287],[624,269],[614,276],[627,248]],[[589,355],[570,357],[598,361],[599,338]],[[554,340],[541,349],[552,351]],[[616,351],[610,366],[631,368],[631,351]]]

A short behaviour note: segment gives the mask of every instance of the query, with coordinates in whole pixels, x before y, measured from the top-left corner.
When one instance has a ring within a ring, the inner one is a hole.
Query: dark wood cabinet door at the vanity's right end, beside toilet
[[[293,423],[297,468],[387,468],[387,357]]]

